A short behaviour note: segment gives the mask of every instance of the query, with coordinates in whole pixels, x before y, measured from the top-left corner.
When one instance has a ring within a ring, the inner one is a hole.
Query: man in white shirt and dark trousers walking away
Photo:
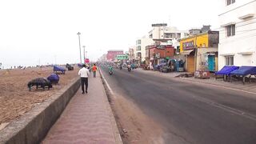
[[[86,65],[82,65],[82,69],[78,71],[78,75],[80,75],[80,78],[81,78],[82,94],[85,94],[84,85],[86,85],[86,94],[87,94],[88,77],[90,75],[90,72],[88,69],[86,69]]]

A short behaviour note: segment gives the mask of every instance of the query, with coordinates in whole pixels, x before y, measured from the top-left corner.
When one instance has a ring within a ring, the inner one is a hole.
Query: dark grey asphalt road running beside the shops
[[[164,127],[166,143],[255,144],[256,95],[177,82],[136,70],[114,70],[106,81]]]

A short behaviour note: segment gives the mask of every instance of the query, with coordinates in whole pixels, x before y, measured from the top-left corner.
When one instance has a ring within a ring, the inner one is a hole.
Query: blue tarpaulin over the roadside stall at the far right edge
[[[240,66],[238,70],[234,70],[230,74],[240,76],[256,75],[256,66]]]

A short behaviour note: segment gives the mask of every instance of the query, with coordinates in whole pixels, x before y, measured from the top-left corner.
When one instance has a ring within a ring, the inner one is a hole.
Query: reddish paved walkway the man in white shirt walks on
[[[80,87],[42,143],[122,143],[99,73],[91,74],[88,94]]]

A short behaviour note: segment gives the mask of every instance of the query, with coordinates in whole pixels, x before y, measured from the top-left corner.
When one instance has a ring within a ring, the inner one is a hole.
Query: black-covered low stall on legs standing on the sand
[[[48,86],[48,90],[52,88],[53,86],[51,85],[50,81],[46,78],[35,78],[31,80],[27,86],[29,87],[29,90],[31,90],[32,86],[38,86],[42,87],[43,90],[45,90],[45,87]]]

